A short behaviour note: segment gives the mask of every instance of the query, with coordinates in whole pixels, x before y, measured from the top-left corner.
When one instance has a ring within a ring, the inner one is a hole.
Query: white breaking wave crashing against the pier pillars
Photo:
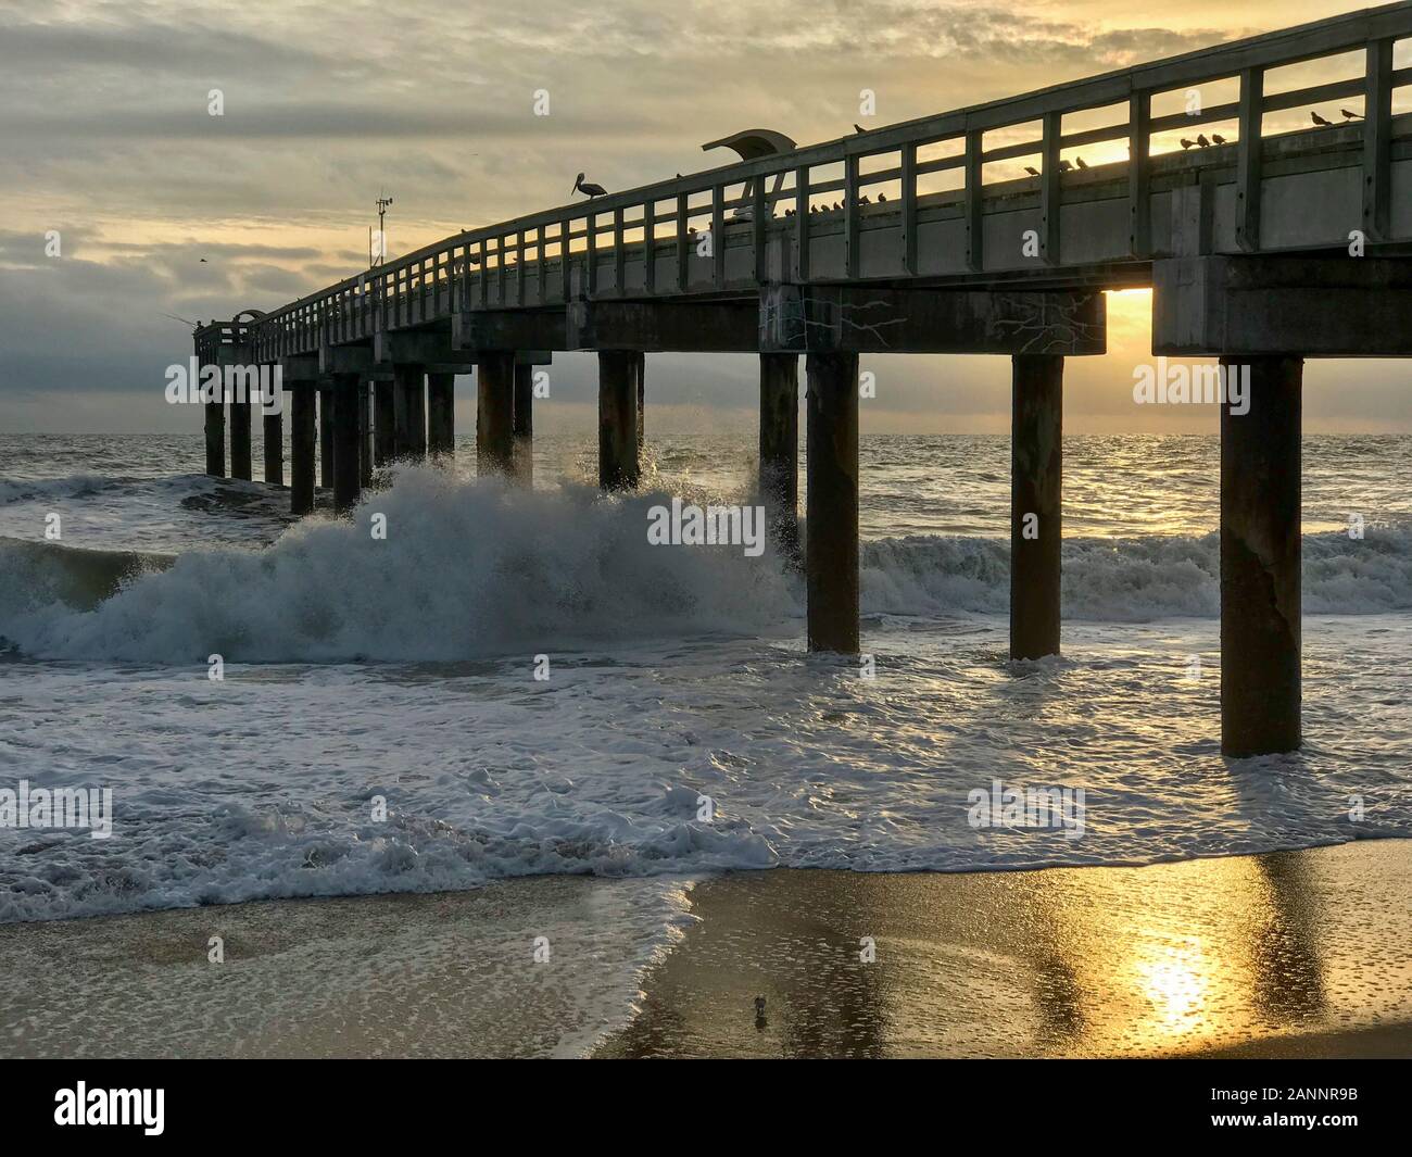
[[[774,552],[648,544],[665,493],[525,492],[402,469],[353,520],[308,518],[264,550],[176,557],[0,538],[0,637],[34,657],[205,663],[462,660],[621,639],[795,631],[802,583]],[[374,537],[373,516],[385,518]],[[1412,609],[1412,530],[1309,534],[1306,613]],[[1072,538],[1063,613],[1214,617],[1220,540]],[[866,615],[1004,615],[1010,548],[983,537],[866,542]]]

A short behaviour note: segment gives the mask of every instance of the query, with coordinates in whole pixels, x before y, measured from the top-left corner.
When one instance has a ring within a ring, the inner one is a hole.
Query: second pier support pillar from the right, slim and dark
[[[1063,357],[1012,359],[1010,425],[1010,657],[1059,654],[1063,541]]]

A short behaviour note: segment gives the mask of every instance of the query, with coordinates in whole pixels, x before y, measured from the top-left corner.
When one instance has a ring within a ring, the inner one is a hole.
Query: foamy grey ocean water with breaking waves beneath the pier
[[[774,551],[647,541],[751,499],[753,431],[648,432],[634,496],[589,438],[541,437],[532,492],[462,438],[299,523],[201,435],[0,437],[0,788],[113,793],[109,839],[0,828],[0,921],[592,873],[631,945],[599,1017],[720,869],[1412,836],[1412,438],[1305,439],[1305,746],[1227,761],[1214,438],[1065,439],[1065,651],[1011,664],[1008,439],[864,437],[866,670],[805,651]],[[973,826],[997,781],[1082,788],[1082,836]]]

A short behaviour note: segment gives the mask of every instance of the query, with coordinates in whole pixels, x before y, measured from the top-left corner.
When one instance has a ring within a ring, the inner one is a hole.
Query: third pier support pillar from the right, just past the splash
[[[808,377],[809,650],[858,653],[858,355],[810,353]]]

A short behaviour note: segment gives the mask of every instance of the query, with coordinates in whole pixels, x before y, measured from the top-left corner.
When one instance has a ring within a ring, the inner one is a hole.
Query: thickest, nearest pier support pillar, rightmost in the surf
[[[1303,360],[1221,359],[1250,373],[1250,411],[1221,405],[1221,752],[1299,746]]]

